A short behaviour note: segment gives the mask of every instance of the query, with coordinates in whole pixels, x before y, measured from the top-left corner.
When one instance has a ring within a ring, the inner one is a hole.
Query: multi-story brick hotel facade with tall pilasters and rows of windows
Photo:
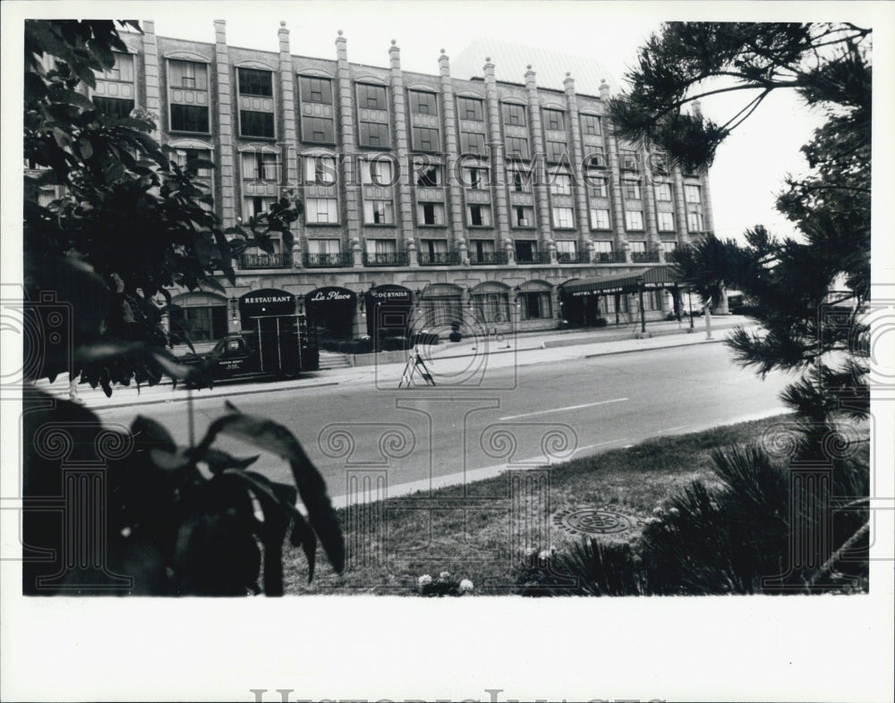
[[[341,32],[334,58],[309,58],[285,22],[277,54],[229,46],[224,21],[214,44],[142,28],[98,76],[98,108],[146,109],[173,158],[214,162],[200,176],[225,228],[283,193],[303,201],[291,249],[245,252],[226,296],[175,296],[198,341],[226,334],[230,301],[259,291],[294,295],[343,339],[395,326],[389,311],[455,331],[630,321],[630,282],[661,284],[669,250],[712,229],[707,174],[617,140],[605,83],[584,95],[566,74],[548,89],[531,66],[498,81],[490,58],[457,78],[444,50],[434,74],[405,72],[394,41],[386,67],[352,64]],[[671,301],[648,287],[645,317]]]

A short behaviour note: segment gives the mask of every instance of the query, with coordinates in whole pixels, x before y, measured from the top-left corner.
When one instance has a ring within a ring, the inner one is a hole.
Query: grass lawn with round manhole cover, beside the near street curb
[[[787,417],[659,437],[552,467],[345,508],[339,511],[345,573],[337,576],[318,550],[309,585],[304,555],[287,548],[286,593],[410,595],[421,574],[440,572],[472,580],[479,595],[514,593],[527,550],[561,547],[582,536],[559,524],[564,516],[607,506],[621,515],[619,531],[609,538],[630,539],[638,521],[678,487],[695,479],[717,482],[712,449],[756,441]]]

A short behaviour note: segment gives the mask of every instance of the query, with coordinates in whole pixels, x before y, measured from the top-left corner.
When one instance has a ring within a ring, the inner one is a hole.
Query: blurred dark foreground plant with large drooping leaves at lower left
[[[215,420],[194,447],[175,444],[153,419],[138,416],[130,438],[113,436],[90,411],[70,402],[26,413],[25,436],[36,436],[47,422],[67,428],[72,452],[82,460],[103,436],[117,446],[132,443],[132,452],[108,462],[106,491],[107,540],[103,566],[133,579],[129,593],[156,596],[243,596],[283,594],[283,546],[288,532],[300,546],[313,578],[317,541],[336,572],[345,569],[345,546],[336,513],[320,472],[298,441],[283,426],[244,415],[232,405]],[[213,446],[219,435],[234,436],[289,462],[294,485],[268,479],[250,470],[259,458],[234,457]],[[62,482],[63,462],[29,445],[26,495],[52,495]],[[296,508],[301,497],[307,518]],[[256,510],[257,505],[257,510]],[[25,512],[28,543],[65,554],[54,516]],[[292,527],[291,532],[289,531]],[[259,549],[263,547],[263,555]],[[262,585],[258,578],[263,563]],[[23,589],[42,594],[39,579],[58,569],[56,563],[26,561]],[[96,572],[73,569],[55,584],[71,593],[83,587],[94,593]]]

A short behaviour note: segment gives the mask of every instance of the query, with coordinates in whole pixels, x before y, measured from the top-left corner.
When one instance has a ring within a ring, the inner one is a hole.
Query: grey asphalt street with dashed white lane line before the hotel
[[[436,360],[436,387],[398,389],[400,368],[351,383],[234,396],[243,412],[290,428],[327,480],[330,495],[349,479],[406,492],[563,461],[651,436],[681,434],[783,411],[789,377],[759,379],[734,365],[723,344],[698,344],[558,363],[504,363],[477,376],[474,360]],[[419,384],[421,379],[416,377]],[[222,414],[221,397],[196,394],[194,434]],[[107,424],[129,426],[138,414],[157,419],[187,444],[187,403],[97,410]],[[251,446],[224,439],[241,456]],[[256,464],[272,479],[288,467],[263,454]],[[377,497],[371,495],[368,497]]]

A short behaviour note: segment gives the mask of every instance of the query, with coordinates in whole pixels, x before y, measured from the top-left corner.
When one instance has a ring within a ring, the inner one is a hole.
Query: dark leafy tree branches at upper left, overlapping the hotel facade
[[[121,22],[139,31],[133,21]],[[165,369],[134,356],[98,363],[91,344],[142,343],[163,350],[189,343],[162,324],[171,291],[224,292],[216,276],[234,283],[233,258],[248,247],[273,253],[272,233],[292,246],[297,200],[282,198],[246,225],[222,231],[211,211],[207,185],[196,178],[208,161],[172,161],[153,132],[155,117],[134,110],[104,114],[85,86],[96,72],[126,52],[113,21],[25,22],[23,157],[25,174],[23,253],[29,300],[44,292],[72,305],[70,356],[48,355],[40,373],[81,375],[107,394],[115,384],[157,383]],[[41,191],[61,187],[61,197],[41,201]],[[73,268],[93,281],[71,281]],[[26,356],[31,352],[26,349]],[[149,358],[150,354],[144,357]]]

